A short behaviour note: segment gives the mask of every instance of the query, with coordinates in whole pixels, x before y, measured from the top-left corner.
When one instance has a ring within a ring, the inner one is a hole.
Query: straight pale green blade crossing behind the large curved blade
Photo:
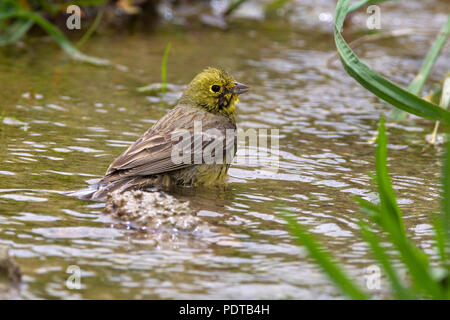
[[[419,73],[409,84],[408,86],[409,92],[415,95],[418,95],[420,93],[420,90],[425,84],[425,81],[428,79],[431,69],[433,69],[433,66],[437,58],[439,57],[442,48],[444,48],[445,42],[447,41],[449,36],[450,36],[450,15],[448,16],[447,22],[441,28],[438,36],[436,37],[436,40],[434,41],[433,45],[428,51],[428,54],[425,58],[425,61],[422,64],[422,67],[420,68]],[[399,109],[395,109],[391,115],[391,119],[394,121],[402,120],[405,117],[406,113]]]

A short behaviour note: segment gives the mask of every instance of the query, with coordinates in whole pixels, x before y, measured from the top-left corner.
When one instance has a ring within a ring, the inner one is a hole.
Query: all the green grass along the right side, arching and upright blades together
[[[442,50],[445,40],[448,38],[450,16],[430,49],[419,75],[411,83],[408,90],[404,90],[366,66],[355,55],[341,35],[344,20],[348,13],[362,5],[375,2],[381,1],[359,1],[351,7],[348,0],[339,0],[337,3],[334,34],[336,47],[345,70],[363,87],[393,106],[423,118],[450,124],[450,113],[435,104],[436,99],[429,99],[432,102],[428,102],[417,96]],[[441,90],[439,93],[442,93],[443,96],[445,90]],[[379,203],[371,203],[361,198],[356,200],[371,222],[369,224],[366,220],[360,220],[359,227],[362,237],[368,244],[375,260],[383,268],[391,285],[394,298],[450,299],[450,141],[446,143],[443,168],[442,209],[433,220],[435,249],[439,255],[439,264],[432,267],[430,257],[408,238],[405,230],[403,215],[397,204],[388,173],[387,136],[384,118],[381,119],[378,128],[376,176],[374,177],[378,187]],[[336,263],[333,255],[299,225],[291,214],[287,213],[286,210],[283,210],[283,212],[291,234],[300,245],[306,247],[310,257],[322,268],[334,284],[350,298],[366,299],[369,295],[361,290],[358,284]],[[385,243],[382,242],[379,234],[385,237]],[[386,243],[389,246],[386,246]],[[386,248],[393,249],[394,252],[388,252]],[[402,279],[399,276],[399,268],[395,266],[393,256],[400,260],[401,270],[407,271],[407,279]]]

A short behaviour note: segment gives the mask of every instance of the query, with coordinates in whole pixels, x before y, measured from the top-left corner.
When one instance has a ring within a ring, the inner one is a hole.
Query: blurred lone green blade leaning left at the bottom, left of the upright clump
[[[308,231],[303,229],[289,214],[285,214],[284,218],[288,222],[290,233],[300,245],[306,247],[309,256],[345,295],[355,300],[368,299],[367,294],[350,279],[345,271],[334,261],[331,254],[325,251]]]

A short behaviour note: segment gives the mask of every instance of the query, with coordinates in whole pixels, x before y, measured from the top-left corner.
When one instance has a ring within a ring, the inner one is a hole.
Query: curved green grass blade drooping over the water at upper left
[[[46,19],[44,19],[37,13],[27,10],[18,10],[13,12],[0,13],[0,20],[10,18],[25,18],[34,21],[42,29],[44,29],[59,44],[59,46],[75,60],[102,66],[110,64],[109,61],[106,59],[91,57],[81,53],[77,48],[75,48],[75,46],[73,46],[70,43],[70,41],[64,36],[64,34],[57,27],[55,27],[53,24],[48,22]]]

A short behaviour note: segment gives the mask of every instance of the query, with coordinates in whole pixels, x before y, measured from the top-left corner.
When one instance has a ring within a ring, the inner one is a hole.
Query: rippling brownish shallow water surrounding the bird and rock
[[[358,234],[356,223],[363,214],[353,196],[376,199],[369,140],[380,115],[391,107],[362,89],[338,61],[327,66],[335,52],[331,23],[318,17],[330,14],[334,1],[317,3],[295,11],[290,21],[236,21],[227,32],[171,28],[96,37],[86,44],[86,53],[126,68],[73,62],[46,41],[1,49],[0,112],[6,118],[0,130],[0,244],[11,247],[24,274],[15,297],[341,297],[286,232],[278,209],[283,205],[364,286],[373,261]],[[406,9],[401,3],[381,6],[383,27],[426,24],[438,30],[449,11],[445,1],[408,4]],[[355,28],[365,27],[364,17],[355,17]],[[415,35],[378,41],[357,52],[406,86],[431,39]],[[164,97],[137,93],[137,87],[160,81],[168,41],[173,91]],[[178,195],[220,231],[166,241],[158,234],[119,228],[101,214],[102,203],[63,194],[101,177],[209,65],[227,68],[252,87],[238,105],[239,127],[280,130],[276,174],[238,164],[230,169],[225,189]],[[431,83],[449,65],[447,48]],[[423,150],[432,126],[414,120],[389,128],[389,164],[405,224],[430,253],[430,215],[439,207],[440,171],[439,152]],[[66,287],[71,265],[81,269],[81,290]],[[381,291],[374,293],[383,296],[386,290],[383,280]]]

